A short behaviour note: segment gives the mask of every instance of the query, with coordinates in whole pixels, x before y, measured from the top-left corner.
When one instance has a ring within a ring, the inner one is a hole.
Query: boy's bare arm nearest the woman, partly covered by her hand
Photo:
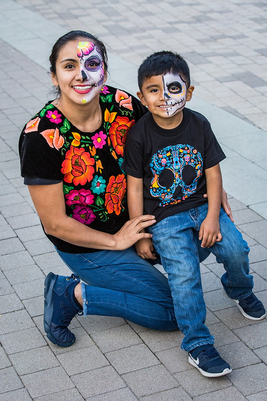
[[[143,214],[143,179],[127,174],[127,200],[130,219]],[[143,230],[144,231],[144,230]],[[135,244],[136,252],[143,259],[156,259],[151,239],[143,238]]]

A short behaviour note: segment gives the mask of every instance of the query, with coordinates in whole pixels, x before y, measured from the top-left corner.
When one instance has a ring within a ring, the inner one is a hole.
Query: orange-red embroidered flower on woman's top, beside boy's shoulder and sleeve
[[[123,156],[123,147],[125,144],[128,130],[133,126],[135,120],[129,120],[127,117],[118,116],[111,124],[109,130],[112,145],[118,155]]]

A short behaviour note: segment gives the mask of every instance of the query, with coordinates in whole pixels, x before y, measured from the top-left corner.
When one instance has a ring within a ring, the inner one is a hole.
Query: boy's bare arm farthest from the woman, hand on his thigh
[[[202,239],[202,248],[212,246],[222,239],[219,226],[219,215],[222,193],[222,179],[219,164],[205,169],[208,213],[199,229],[199,239]]]

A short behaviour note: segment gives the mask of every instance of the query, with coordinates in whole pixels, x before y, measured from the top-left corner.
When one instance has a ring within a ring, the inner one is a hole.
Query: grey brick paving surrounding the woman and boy
[[[201,264],[207,325],[233,371],[205,378],[179,331],[121,318],[78,317],[67,349],[47,341],[44,278],[69,270],[45,237],[20,177],[18,138],[51,89],[46,59],[72,29],[107,45],[109,82],[135,92],[139,63],[156,50],[191,69],[192,108],[227,155],[221,163],[235,223],[250,247],[254,291],[267,305],[267,4],[253,1],[6,0],[0,4],[0,401],[264,401],[266,319],[248,321],[220,289],[222,265]]]

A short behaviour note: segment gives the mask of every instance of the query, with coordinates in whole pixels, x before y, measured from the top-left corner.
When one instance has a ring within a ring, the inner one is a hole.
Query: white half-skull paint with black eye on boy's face
[[[186,102],[186,82],[181,75],[168,73],[162,75],[163,97],[168,106],[166,113],[173,115],[177,110],[184,107]]]

